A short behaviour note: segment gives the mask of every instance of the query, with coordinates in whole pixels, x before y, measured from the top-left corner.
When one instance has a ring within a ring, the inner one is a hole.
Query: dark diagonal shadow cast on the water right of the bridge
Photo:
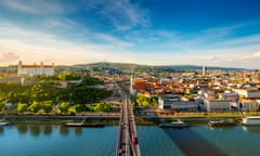
[[[225,156],[206,139],[192,129],[164,129],[165,133],[180,147],[185,156]]]

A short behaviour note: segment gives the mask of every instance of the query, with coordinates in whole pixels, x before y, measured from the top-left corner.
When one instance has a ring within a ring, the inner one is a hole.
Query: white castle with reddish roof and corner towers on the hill
[[[36,75],[54,75],[54,64],[52,65],[43,65],[41,62],[40,65],[23,65],[22,61],[18,62],[17,65],[17,75],[18,76],[36,76]]]

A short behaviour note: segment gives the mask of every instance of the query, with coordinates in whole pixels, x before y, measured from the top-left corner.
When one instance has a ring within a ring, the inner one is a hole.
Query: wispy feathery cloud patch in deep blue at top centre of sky
[[[117,30],[148,25],[147,12],[130,0],[88,0],[84,5],[87,11],[96,11],[107,18]]]

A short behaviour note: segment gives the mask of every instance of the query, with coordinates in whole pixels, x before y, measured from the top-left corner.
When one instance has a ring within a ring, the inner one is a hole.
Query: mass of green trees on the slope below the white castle
[[[61,78],[81,81],[66,88],[54,86],[53,80],[61,82]],[[0,83],[0,112],[6,109],[6,103],[12,103],[16,105],[17,113],[51,113],[55,106],[61,113],[79,113],[87,109],[86,104],[96,103],[113,94],[113,91],[98,87],[103,81],[89,76],[38,76],[35,80],[31,86]]]

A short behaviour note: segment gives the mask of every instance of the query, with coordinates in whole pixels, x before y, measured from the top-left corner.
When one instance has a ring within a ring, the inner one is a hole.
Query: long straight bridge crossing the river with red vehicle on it
[[[138,133],[129,95],[125,95],[121,104],[121,118],[118,130],[117,156],[141,156]]]

